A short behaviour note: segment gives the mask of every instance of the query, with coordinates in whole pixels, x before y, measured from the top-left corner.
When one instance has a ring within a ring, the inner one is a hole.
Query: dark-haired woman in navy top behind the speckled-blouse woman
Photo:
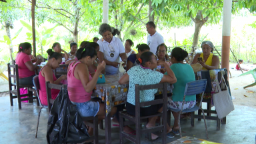
[[[127,59],[127,65],[126,65],[126,71],[131,69],[131,67],[135,65],[139,65],[139,57],[141,57],[141,54],[149,51],[149,45],[143,43],[141,45],[137,45],[138,53],[137,54],[131,54]]]

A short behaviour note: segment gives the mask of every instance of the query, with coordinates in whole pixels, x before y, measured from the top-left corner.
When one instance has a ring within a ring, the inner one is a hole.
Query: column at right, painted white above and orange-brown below
[[[224,0],[223,25],[222,25],[221,68],[226,68],[227,71],[229,71],[231,9],[232,9],[232,0]]]

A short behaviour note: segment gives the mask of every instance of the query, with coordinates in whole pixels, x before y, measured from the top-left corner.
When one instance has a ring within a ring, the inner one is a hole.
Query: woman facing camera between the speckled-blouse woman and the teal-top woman
[[[155,55],[157,56],[157,61],[161,60],[161,61],[165,61],[165,63],[167,63],[167,65],[169,65],[169,67],[171,66],[171,62],[169,61],[169,57],[167,57],[167,46],[162,43],[161,45],[158,45],[157,47],[157,53],[155,53]],[[157,69],[161,69],[161,68],[165,68],[164,65],[158,65]]]

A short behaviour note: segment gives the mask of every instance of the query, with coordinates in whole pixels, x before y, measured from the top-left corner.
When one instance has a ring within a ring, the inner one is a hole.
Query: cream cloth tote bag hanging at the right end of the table
[[[221,75],[221,79],[223,79],[223,81],[225,82],[223,75]],[[233,105],[231,96],[229,95],[228,89],[221,91],[221,87],[219,86],[219,83],[217,83],[217,90],[219,92],[213,94],[213,103],[215,105],[215,109],[219,119],[222,119],[223,117],[229,115],[229,113],[233,111],[235,107]]]

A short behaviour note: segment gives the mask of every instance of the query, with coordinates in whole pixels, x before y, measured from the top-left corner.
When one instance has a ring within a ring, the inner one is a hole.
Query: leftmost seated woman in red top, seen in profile
[[[37,59],[35,64],[32,63],[31,58],[29,57],[32,53],[32,46],[30,43],[21,43],[19,49],[22,49],[16,59],[16,64],[19,66],[19,84],[33,85],[35,69],[37,69],[37,65],[41,63],[42,60]]]

